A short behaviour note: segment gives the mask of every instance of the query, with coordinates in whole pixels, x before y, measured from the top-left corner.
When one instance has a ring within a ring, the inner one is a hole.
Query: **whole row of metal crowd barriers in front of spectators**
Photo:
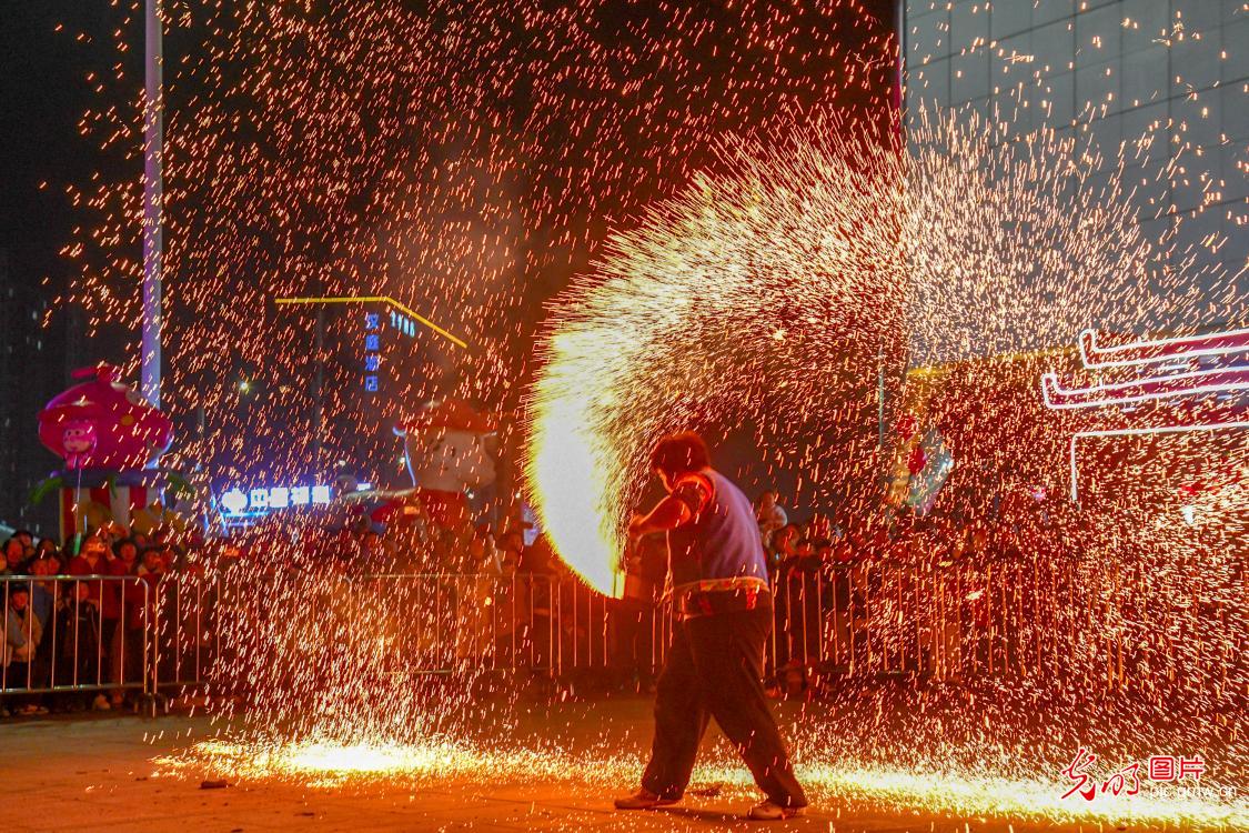
[[[326,609],[335,594],[366,599],[370,617],[385,622],[388,634],[378,663],[386,673],[413,678],[505,669],[572,683],[595,677],[642,682],[662,667],[672,638],[669,604],[607,599],[572,578],[328,578],[322,582],[331,598]],[[129,689],[156,701],[202,688],[222,652],[237,651],[232,641],[265,633],[260,623],[286,616],[296,603],[282,594],[282,581],[260,582],[247,569],[167,573],[155,588],[132,576],[0,577],[0,694]],[[39,638],[34,617],[10,603],[15,588],[26,589],[27,606],[50,611]],[[1072,661],[1073,646],[1092,646],[1080,649],[1105,663],[1108,686],[1119,686],[1130,676],[1132,654],[1122,628],[1113,627],[1122,617],[1109,612],[1123,589],[1113,577],[1090,584],[1069,563],[1044,558],[782,571],[773,581],[769,684],[792,689],[814,678],[1052,674]],[[322,616],[321,609],[312,616]],[[34,652],[20,647],[30,642]],[[1177,664],[1172,656],[1167,662]]]

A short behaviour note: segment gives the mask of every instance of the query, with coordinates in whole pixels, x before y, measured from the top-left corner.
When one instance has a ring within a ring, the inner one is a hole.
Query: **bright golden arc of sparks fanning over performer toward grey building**
[[[916,121],[907,152],[818,119],[728,145],[727,174],[615,236],[555,308],[528,477],[592,587],[620,589],[624,523],[664,432],[761,426],[778,462],[853,482],[879,458],[846,438],[871,425],[863,400],[902,331],[909,361],[929,365],[1060,345],[1090,321],[1184,318],[1209,267],[1169,267],[1174,231],[1152,240],[1137,222],[1123,170],[1149,141],[1107,169],[1050,130],[1010,144],[975,117]],[[1112,175],[1097,185],[1097,170]]]

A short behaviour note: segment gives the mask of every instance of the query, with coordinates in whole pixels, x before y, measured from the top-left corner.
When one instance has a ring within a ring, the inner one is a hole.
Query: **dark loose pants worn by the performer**
[[[643,788],[664,798],[684,794],[707,721],[714,717],[769,801],[807,806],[763,694],[763,646],[771,629],[771,604],[677,623],[657,684]]]

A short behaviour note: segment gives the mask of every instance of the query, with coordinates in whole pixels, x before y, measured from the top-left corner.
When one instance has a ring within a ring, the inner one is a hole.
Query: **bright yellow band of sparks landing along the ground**
[[[634,777],[641,761],[631,756],[586,754],[560,748],[498,748],[462,739],[427,739],[420,744],[341,746],[315,738],[257,753],[251,746],[204,742],[186,753],[157,759],[164,776],[184,772],[229,776],[246,782],[280,779],[313,788],[342,788],[368,783],[405,786],[455,783],[561,783],[575,796],[593,801],[603,789],[616,789]],[[871,806],[873,809],[927,816],[1047,821],[1058,824],[1169,824],[1192,831],[1227,831],[1249,824],[1249,803],[1219,801],[1219,791],[1185,796],[1159,788],[1124,797],[1122,802],[1073,804],[1060,798],[1053,782],[1014,781],[943,771],[856,767],[846,763],[797,762],[811,798],[831,806]],[[749,776],[724,757],[701,764],[693,789],[713,784],[742,798]]]

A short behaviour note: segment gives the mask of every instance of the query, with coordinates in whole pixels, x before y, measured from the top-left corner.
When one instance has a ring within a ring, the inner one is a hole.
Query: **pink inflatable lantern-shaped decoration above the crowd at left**
[[[141,468],[174,440],[174,423],[134,390],[117,368],[100,363],[74,371],[75,385],[39,415],[39,440],[65,458],[66,468]]]

